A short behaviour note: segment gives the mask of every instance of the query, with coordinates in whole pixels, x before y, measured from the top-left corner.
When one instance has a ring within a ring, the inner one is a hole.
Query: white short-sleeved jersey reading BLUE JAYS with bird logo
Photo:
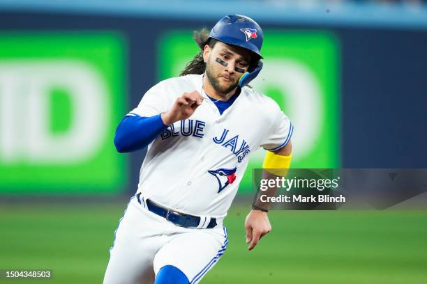
[[[193,116],[167,127],[149,144],[137,191],[172,210],[220,218],[230,208],[250,154],[260,147],[280,149],[293,127],[274,100],[247,86],[220,115],[202,79],[190,74],[160,81],[128,113],[155,116],[193,90],[204,97]]]

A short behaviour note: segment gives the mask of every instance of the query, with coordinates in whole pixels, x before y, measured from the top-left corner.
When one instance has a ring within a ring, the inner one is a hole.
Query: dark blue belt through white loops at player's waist
[[[137,194],[137,200],[138,200],[138,203],[142,204],[140,196],[141,196],[141,193]],[[145,200],[145,203],[147,203],[147,208],[149,211],[153,212],[154,214],[157,214],[158,216],[162,216],[167,221],[170,221],[179,227],[210,229],[210,228],[214,228],[217,225],[215,218],[209,218],[209,217],[201,218],[199,216],[183,214],[181,212],[170,210],[166,207],[153,203],[153,201],[149,199]],[[210,221],[209,223],[207,223],[209,219]],[[202,223],[200,222],[201,220],[202,220]],[[204,223],[207,223],[207,226]]]

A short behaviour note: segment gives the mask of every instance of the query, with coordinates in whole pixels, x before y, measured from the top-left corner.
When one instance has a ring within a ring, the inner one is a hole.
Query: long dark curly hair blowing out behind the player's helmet
[[[197,45],[200,47],[200,52],[198,52],[192,61],[188,62],[186,65],[186,68],[181,71],[181,74],[179,76],[185,76],[188,74],[203,74],[204,70],[206,69],[206,63],[203,61],[203,49],[204,45],[209,45],[209,47],[213,48],[213,46],[218,42],[218,40],[215,40],[211,38],[211,40],[208,41],[209,38],[209,31],[206,28],[200,29],[200,31],[193,31],[193,39],[197,43]]]

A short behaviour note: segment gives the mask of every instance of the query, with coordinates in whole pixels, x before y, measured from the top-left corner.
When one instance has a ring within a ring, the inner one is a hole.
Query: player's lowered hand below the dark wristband
[[[267,235],[271,231],[271,224],[269,216],[266,212],[260,210],[252,210],[246,216],[245,221],[246,229],[246,244],[249,244],[248,250],[255,248],[257,243],[264,235]]]

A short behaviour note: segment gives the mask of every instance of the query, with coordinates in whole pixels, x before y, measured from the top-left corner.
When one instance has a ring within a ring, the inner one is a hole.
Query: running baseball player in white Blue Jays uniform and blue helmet
[[[251,153],[264,168],[289,168],[292,124],[248,83],[262,69],[263,35],[229,15],[180,77],[160,81],[117,127],[119,152],[148,146],[137,192],[114,236],[104,283],[199,283],[227,248],[223,219]],[[271,230],[266,208],[246,217],[251,250]]]

